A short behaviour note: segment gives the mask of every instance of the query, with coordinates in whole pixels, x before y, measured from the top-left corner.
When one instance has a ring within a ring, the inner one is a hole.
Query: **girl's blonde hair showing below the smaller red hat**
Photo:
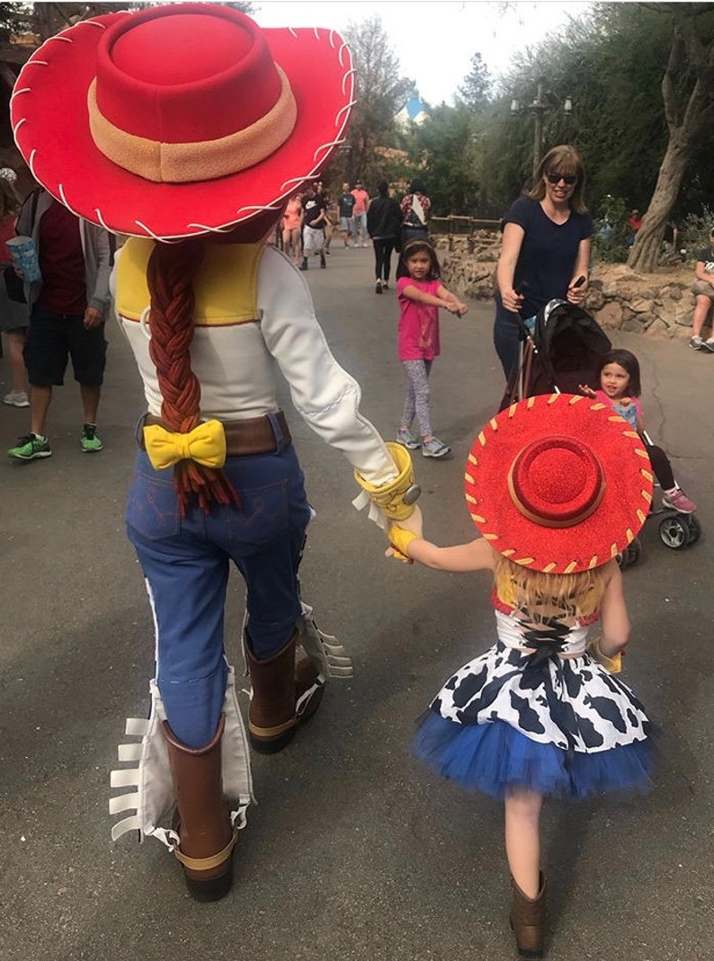
[[[501,554],[494,580],[499,600],[534,624],[553,617],[589,617],[600,608],[606,583],[602,567],[578,574],[543,574]]]

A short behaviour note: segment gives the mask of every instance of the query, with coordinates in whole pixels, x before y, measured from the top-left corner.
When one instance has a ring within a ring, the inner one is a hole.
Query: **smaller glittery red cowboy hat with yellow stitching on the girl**
[[[600,567],[652,502],[650,458],[611,407],[572,394],[529,397],[483,428],[466,463],[466,503],[510,560],[546,574]]]

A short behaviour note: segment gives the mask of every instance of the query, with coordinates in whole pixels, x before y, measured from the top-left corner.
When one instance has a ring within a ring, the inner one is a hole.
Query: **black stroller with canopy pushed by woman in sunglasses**
[[[600,362],[612,349],[609,337],[589,313],[568,301],[552,300],[535,317],[523,320],[518,362],[505,387],[499,410],[534,394],[579,394],[581,383],[593,383]],[[648,443],[650,438],[645,434]],[[668,507],[652,508],[650,517],[662,515],[659,539],[673,551],[696,544],[702,525],[694,514]],[[634,564],[642,554],[637,537],[617,560],[621,568]]]

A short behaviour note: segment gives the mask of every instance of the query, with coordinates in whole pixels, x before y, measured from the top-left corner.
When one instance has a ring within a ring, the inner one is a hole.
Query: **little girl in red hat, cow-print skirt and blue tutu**
[[[493,571],[496,644],[446,681],[414,749],[439,775],[505,801],[511,927],[520,954],[539,958],[544,796],[650,786],[652,724],[615,674],[629,634],[616,557],[645,523],[652,470],[637,431],[608,405],[553,394],[480,431],[465,487],[476,540],[439,548],[390,530],[411,560]],[[588,646],[598,620],[602,639]]]

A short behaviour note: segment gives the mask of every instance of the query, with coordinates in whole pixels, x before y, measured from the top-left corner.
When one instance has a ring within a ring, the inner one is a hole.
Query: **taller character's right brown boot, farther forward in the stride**
[[[246,658],[251,676],[248,736],[261,754],[282,751],[298,725],[311,718],[322,701],[324,678],[309,658],[295,664],[293,634],[282,651],[258,660],[246,634]]]

